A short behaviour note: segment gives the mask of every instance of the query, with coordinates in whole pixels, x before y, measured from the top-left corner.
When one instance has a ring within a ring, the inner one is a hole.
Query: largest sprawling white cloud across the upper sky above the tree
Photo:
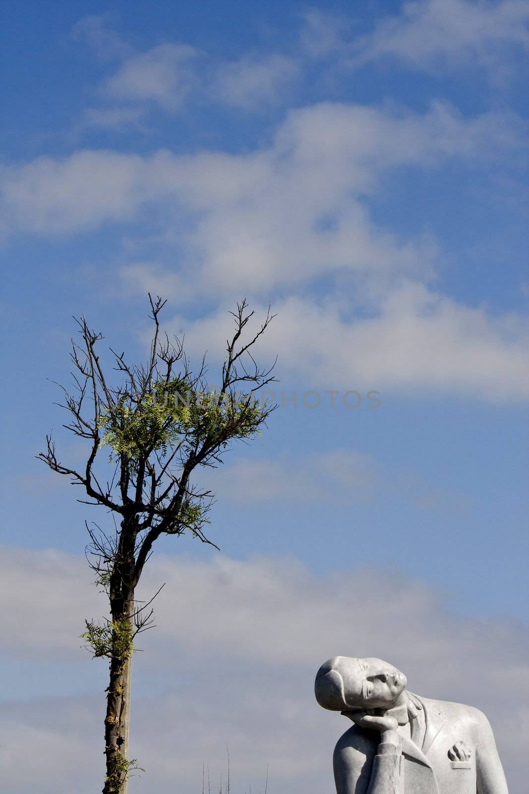
[[[339,298],[274,306],[280,316],[266,343],[280,368],[328,388],[518,400],[527,395],[523,319],[427,287],[435,241],[389,233],[365,204],[395,168],[471,163],[515,144],[496,114],[466,121],[439,103],[427,114],[324,103],[289,113],[273,143],[248,155],[84,151],[6,168],[4,217],[12,229],[67,233],[137,222],[155,206],[167,244],[177,229],[182,266],[175,278],[132,263],[121,271],[128,289],[158,283],[176,294],[181,283],[182,302],[200,295],[224,305],[330,276],[339,280],[328,295]],[[363,316],[351,318],[358,306]],[[181,317],[175,330],[193,330],[211,349],[223,322]]]

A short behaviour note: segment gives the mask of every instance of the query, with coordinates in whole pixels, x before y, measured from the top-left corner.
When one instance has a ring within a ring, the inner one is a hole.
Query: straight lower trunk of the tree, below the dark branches
[[[110,683],[106,698],[106,777],[103,794],[127,794],[132,603],[131,597],[121,615],[113,615]]]

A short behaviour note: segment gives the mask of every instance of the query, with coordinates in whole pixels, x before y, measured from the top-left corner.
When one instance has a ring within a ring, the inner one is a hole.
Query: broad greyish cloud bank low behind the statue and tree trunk
[[[2,594],[9,608],[0,612],[4,653],[31,653],[36,665],[53,653],[63,660],[94,606],[85,561],[13,549],[1,560],[0,580],[9,580]],[[331,788],[332,746],[347,726],[316,706],[312,680],[335,653],[387,658],[413,691],[483,709],[510,791],[524,791],[525,627],[457,617],[419,580],[377,569],[315,576],[293,560],[153,557],[144,595],[163,581],[157,627],[144,635],[133,665],[132,753],[148,768],[134,781],[137,792],[200,790],[202,761],[217,782],[226,743],[241,794],[249,783],[263,786],[268,762],[277,794]],[[57,688],[63,697],[2,706],[0,765],[10,794],[71,790],[76,769],[79,794],[98,783],[102,692],[74,699],[62,680]],[[21,762],[22,734],[34,763]]]

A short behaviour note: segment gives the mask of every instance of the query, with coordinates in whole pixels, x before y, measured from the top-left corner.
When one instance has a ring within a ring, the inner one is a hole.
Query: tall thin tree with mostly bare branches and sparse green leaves
[[[59,404],[70,414],[63,426],[86,441],[86,465],[77,471],[63,464],[51,436],[37,456],[82,488],[79,502],[105,507],[113,515],[112,531],[86,522],[86,557],[109,599],[109,618],[86,621],[82,634],[94,657],[109,659],[103,794],[125,794],[132,769],[139,769],[128,758],[128,729],[134,638],[152,625],[153,599],[140,603],[135,596],[144,565],[162,535],[189,531],[214,545],[205,535],[213,494],[197,488],[193,472],[218,464],[232,441],[258,434],[273,410],[255,399],[255,391],[274,380],[274,365],[260,368],[251,351],[273,319],[270,309],[247,339],[253,312],[246,301],[232,312],[235,330],[227,341],[220,387],[212,391],[205,381],[205,359],[191,372],[182,341],[160,334],[159,313],[166,302],[151,295],[149,300],[154,333],[148,362],[131,366],[123,353],[110,349],[117,385],[96,352],[102,334],[90,330],[85,318],[76,321],[80,341],[71,341],[74,394],[61,387],[64,402]],[[105,446],[113,468],[104,481],[96,457]]]

